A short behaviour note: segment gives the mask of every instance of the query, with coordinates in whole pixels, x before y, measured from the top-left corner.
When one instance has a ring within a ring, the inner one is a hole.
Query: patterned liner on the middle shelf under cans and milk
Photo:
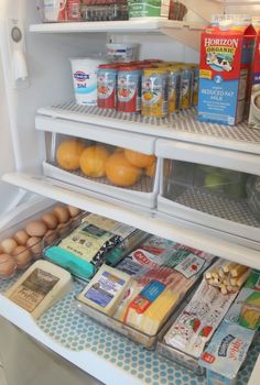
[[[172,128],[176,132],[186,132],[191,134],[220,138],[223,140],[260,144],[260,130],[249,129],[248,123],[246,121],[235,127],[228,127],[218,123],[201,122],[197,120],[196,109],[184,110],[176,113],[175,116],[166,118],[148,118],[142,117],[141,114],[117,112],[115,110],[100,109],[94,106],[80,106],[75,103],[74,100],[54,105],[52,106],[52,109],[54,112],[74,112],[75,121],[77,120],[76,117],[78,114],[91,114],[113,119],[117,121],[122,120],[128,122],[158,125],[162,128]]]

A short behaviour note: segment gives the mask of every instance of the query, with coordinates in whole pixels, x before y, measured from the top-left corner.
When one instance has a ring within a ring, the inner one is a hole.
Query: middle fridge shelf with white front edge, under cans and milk
[[[260,130],[248,129],[247,122],[232,128],[199,122],[196,118],[196,111],[193,109],[170,118],[151,119],[137,114],[107,111],[97,107],[79,106],[74,100],[69,100],[53,107],[40,108],[37,113],[68,120],[71,124],[82,122],[142,134],[149,132],[150,135],[158,138],[197,143],[210,148],[231,150],[238,154],[260,154]],[[44,130],[43,128],[39,129]],[[67,133],[72,133],[72,131]]]

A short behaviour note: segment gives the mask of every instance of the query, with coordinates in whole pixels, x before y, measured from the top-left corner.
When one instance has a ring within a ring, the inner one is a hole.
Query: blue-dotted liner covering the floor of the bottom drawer
[[[18,277],[0,280],[3,294]],[[147,351],[124,337],[99,326],[90,318],[74,311],[74,297],[82,290],[82,285],[74,284],[74,290],[58,301],[37,320],[39,328],[50,338],[73,351],[90,350],[104,360],[127,371],[143,384],[149,385],[206,385],[206,378],[196,376],[155,352]],[[246,385],[258,354],[260,338],[250,350],[247,364],[239,375],[238,385]]]

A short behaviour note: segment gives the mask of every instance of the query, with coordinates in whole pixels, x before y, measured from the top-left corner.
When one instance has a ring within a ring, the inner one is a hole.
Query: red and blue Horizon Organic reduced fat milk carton
[[[202,34],[201,121],[234,125],[243,119],[254,36],[251,25],[238,26],[232,21],[207,26]]]

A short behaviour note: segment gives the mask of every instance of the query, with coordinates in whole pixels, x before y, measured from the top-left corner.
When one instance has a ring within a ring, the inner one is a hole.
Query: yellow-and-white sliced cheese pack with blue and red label
[[[152,280],[128,305],[123,322],[155,336],[178,299],[178,295],[161,282]]]

